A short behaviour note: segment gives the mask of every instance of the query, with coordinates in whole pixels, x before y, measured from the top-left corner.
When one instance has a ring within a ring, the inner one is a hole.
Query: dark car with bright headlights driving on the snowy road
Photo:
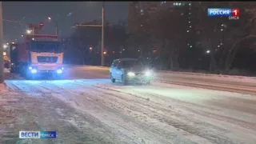
[[[115,59],[110,66],[111,82],[120,80],[123,85],[129,82],[150,84],[153,71],[142,65],[136,58]]]

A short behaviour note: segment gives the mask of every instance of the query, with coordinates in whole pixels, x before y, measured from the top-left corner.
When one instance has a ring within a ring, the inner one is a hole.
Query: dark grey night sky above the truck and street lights
[[[128,2],[105,2],[106,21],[127,22]],[[44,22],[43,30],[54,34],[54,20],[58,22],[59,34],[69,36],[76,22],[90,22],[102,18],[102,2],[2,2],[3,19],[27,23]],[[48,21],[48,16],[52,22]],[[26,25],[4,21],[4,40],[20,39]]]

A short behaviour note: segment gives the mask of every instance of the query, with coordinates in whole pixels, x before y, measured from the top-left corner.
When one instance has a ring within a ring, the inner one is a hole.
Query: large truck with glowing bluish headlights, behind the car
[[[25,42],[10,46],[11,72],[35,77],[63,72],[62,44],[55,35],[28,35]]]

